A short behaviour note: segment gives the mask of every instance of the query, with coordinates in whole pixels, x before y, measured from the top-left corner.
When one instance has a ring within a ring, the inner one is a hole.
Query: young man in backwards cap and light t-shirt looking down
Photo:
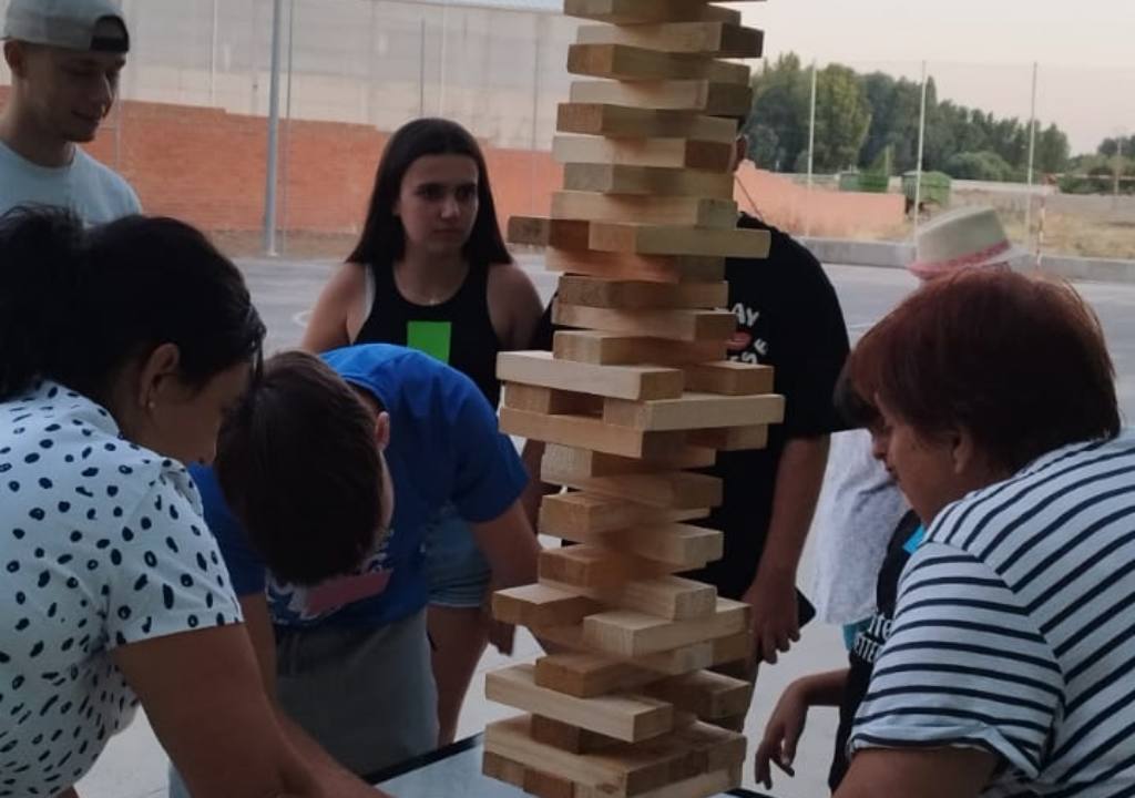
[[[0,213],[67,208],[86,224],[141,211],[121,176],[77,144],[94,140],[129,51],[110,0],[11,0],[3,20],[11,90],[0,110]]]

